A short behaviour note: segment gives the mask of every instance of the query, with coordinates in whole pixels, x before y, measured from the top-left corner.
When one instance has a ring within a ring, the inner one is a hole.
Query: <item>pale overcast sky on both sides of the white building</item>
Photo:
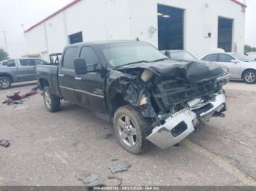
[[[10,57],[26,55],[26,42],[21,24],[29,28],[71,1],[0,0],[0,47],[5,49],[2,31],[7,31],[7,51]],[[256,0],[246,0],[246,4],[246,44],[256,47]]]

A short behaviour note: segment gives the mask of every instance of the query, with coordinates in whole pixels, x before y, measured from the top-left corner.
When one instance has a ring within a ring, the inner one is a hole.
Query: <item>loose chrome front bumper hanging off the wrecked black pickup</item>
[[[211,100],[201,102],[200,99],[190,101],[189,108],[176,112],[165,124],[157,126],[146,139],[157,147],[166,149],[186,138],[195,130],[195,126],[208,122],[215,112],[226,110],[224,93],[212,94]]]

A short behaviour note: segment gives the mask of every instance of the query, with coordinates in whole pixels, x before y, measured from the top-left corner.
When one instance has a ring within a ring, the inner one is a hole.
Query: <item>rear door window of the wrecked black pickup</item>
[[[68,47],[64,52],[62,66],[67,69],[74,69],[74,59],[77,56],[78,47]]]

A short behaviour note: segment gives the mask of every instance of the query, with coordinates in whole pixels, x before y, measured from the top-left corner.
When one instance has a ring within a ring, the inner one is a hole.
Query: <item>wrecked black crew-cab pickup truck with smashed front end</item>
[[[115,41],[69,45],[59,66],[37,66],[37,79],[49,112],[61,100],[89,108],[136,154],[151,143],[173,146],[223,115],[229,74],[214,63],[171,61],[146,42]]]

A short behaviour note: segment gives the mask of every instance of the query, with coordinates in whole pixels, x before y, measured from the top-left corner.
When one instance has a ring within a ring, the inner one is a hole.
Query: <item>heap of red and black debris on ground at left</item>
[[[31,95],[35,95],[38,93],[38,87],[32,88],[29,93],[20,95],[20,92],[13,93],[13,95],[7,95],[7,100],[3,101],[2,104],[25,104],[24,98],[29,98]]]

